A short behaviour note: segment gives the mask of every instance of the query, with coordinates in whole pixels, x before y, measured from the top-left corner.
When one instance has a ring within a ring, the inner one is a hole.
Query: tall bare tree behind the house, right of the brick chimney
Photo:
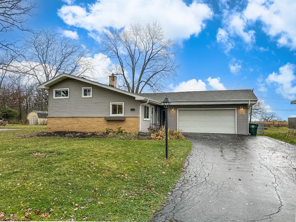
[[[104,32],[104,52],[119,62],[107,72],[115,72],[119,87],[132,93],[143,90],[162,91],[165,80],[174,78],[176,65],[175,44],[165,39],[160,24],[131,24],[127,29]]]

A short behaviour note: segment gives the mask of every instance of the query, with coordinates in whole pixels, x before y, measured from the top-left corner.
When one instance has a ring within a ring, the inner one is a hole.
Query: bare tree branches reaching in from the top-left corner
[[[9,32],[14,29],[29,30],[28,16],[33,16],[36,3],[29,0],[0,0],[0,32]],[[15,51],[14,42],[0,41],[0,48]]]

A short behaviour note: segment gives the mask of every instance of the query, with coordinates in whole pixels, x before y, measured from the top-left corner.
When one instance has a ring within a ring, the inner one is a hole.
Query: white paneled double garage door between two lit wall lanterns
[[[235,134],[235,110],[178,110],[178,115],[183,132]]]

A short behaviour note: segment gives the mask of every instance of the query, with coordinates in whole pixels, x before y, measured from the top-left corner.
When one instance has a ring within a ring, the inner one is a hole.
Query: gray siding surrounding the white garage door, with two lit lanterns
[[[243,111],[240,111],[240,107]],[[177,109],[223,109],[223,108],[237,108],[237,134],[248,134],[248,110],[246,104],[225,104],[225,105],[174,105],[174,111],[169,108],[168,111],[168,127],[177,129]]]

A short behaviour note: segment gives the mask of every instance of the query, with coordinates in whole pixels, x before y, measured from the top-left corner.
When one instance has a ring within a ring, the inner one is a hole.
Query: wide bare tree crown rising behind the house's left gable
[[[22,55],[19,62],[10,64],[10,71],[34,78],[38,84],[62,73],[85,77],[96,70],[91,60],[84,59],[88,50],[56,29],[28,34]]]

